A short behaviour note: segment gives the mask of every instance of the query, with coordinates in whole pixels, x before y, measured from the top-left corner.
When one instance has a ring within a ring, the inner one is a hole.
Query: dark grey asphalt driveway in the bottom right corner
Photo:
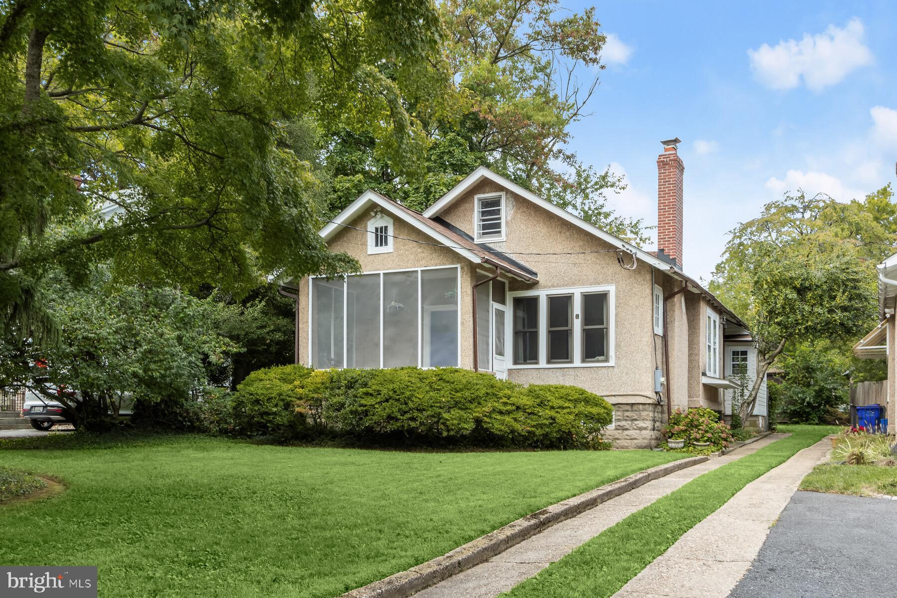
[[[893,595],[897,500],[797,492],[729,598]]]

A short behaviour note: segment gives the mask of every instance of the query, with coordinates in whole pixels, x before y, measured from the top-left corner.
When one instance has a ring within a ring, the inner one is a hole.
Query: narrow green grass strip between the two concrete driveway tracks
[[[509,598],[604,598],[648,567],[738,490],[838,428],[783,426],[791,435],[693,479],[527,579]]]

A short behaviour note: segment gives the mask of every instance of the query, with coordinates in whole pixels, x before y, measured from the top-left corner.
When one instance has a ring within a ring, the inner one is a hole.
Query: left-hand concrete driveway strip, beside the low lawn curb
[[[785,435],[769,435],[739,448],[722,457],[692,465],[663,478],[649,481],[640,488],[612,498],[567,521],[558,523],[528,540],[512,546],[476,567],[414,594],[416,598],[493,598],[507,592],[525,579],[569,554],[581,544],[591,540],[660,497],[664,497],[703,473],[737,461],[747,454],[783,438]],[[828,441],[826,441],[828,442]]]

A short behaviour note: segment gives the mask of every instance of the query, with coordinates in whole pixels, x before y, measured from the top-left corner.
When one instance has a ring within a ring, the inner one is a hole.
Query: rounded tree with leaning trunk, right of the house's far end
[[[875,321],[875,264],[893,251],[897,233],[892,198],[890,186],[848,203],[799,192],[730,233],[710,290],[747,321],[758,350],[743,421],[787,347],[791,355],[819,343],[846,351]]]

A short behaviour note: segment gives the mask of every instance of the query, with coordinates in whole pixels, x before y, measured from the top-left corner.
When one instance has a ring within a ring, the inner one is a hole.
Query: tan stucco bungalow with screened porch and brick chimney
[[[575,384],[613,403],[621,448],[658,444],[675,409],[723,412],[732,360],[756,359],[744,322],[684,274],[677,143],[657,161],[656,254],[484,167],[422,214],[366,191],[320,231],[362,273],[293,285],[297,363]]]

